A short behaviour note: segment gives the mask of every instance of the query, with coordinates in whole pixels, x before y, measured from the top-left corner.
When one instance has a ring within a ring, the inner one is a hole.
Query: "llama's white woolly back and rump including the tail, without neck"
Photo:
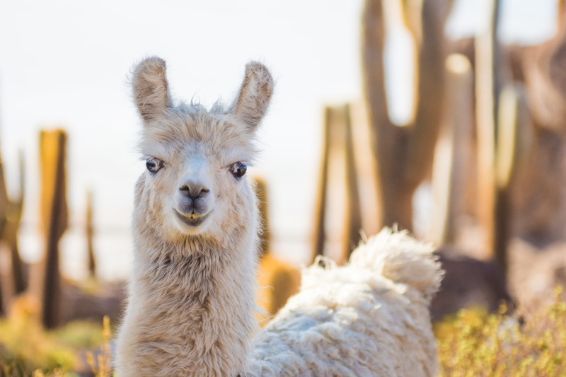
[[[435,376],[430,245],[385,228],[350,264],[304,269],[299,294],[255,337],[250,376]]]

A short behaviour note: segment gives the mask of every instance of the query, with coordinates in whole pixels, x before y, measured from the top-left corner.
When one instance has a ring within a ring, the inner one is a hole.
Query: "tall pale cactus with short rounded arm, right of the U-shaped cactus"
[[[507,272],[507,249],[512,236],[511,184],[532,144],[531,115],[526,93],[511,76],[497,42],[499,0],[490,3],[490,23],[475,40],[475,99],[478,132],[478,219],[487,250]]]

